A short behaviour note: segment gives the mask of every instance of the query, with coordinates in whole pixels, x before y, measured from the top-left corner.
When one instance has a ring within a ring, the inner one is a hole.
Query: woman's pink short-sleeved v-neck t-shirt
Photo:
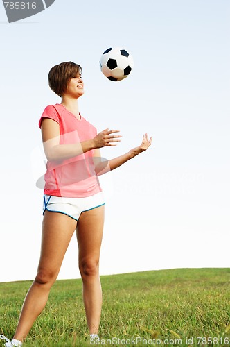
[[[76,144],[96,136],[96,128],[82,116],[78,120],[63,105],[49,105],[42,113],[42,119],[50,118],[60,125],[60,144]],[[101,192],[94,166],[94,150],[76,157],[48,161],[46,164],[44,194],[84,198]]]

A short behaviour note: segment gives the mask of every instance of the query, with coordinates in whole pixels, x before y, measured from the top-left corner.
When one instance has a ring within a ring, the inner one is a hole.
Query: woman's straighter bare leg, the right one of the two
[[[100,245],[103,237],[104,206],[82,212],[77,237],[79,269],[83,282],[83,300],[90,334],[97,334],[102,305],[99,278]]]

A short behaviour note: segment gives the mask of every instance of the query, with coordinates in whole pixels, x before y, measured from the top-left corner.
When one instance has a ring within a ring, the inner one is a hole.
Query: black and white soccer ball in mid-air
[[[107,49],[100,58],[100,69],[110,81],[121,81],[129,76],[134,61],[130,53],[120,47]]]

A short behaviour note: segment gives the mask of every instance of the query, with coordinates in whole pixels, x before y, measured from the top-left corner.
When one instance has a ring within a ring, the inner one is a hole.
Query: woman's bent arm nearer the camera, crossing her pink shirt
[[[56,121],[44,118],[41,128],[44,152],[47,160],[50,161],[73,158],[91,149],[98,149],[104,146],[116,146],[116,142],[119,142],[121,137],[121,135],[117,134],[119,130],[109,130],[107,128],[98,133],[94,139],[76,144],[60,144],[60,126]],[[113,135],[114,133],[116,134]]]

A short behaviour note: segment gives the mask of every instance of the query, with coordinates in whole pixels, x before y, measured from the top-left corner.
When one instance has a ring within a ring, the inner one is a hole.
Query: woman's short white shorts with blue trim
[[[105,205],[103,192],[87,196],[86,198],[64,198],[62,196],[44,194],[43,214],[46,210],[60,212],[78,221],[82,212],[99,208],[102,205]]]

